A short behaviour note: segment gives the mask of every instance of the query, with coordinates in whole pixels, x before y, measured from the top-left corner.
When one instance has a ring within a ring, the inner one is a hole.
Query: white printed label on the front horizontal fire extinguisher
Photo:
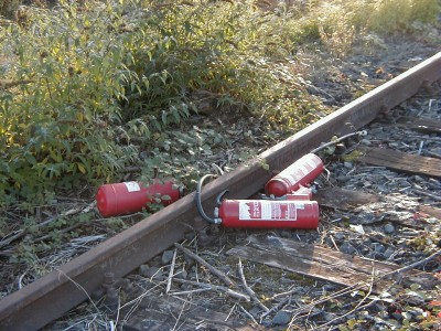
[[[239,201],[240,221],[297,221],[297,203]]]

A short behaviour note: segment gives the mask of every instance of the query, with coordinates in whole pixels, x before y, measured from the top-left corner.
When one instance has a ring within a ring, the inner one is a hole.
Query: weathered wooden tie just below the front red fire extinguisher
[[[354,289],[370,289],[373,293],[400,286],[402,275],[424,288],[440,282],[428,273],[275,236],[251,235],[227,254]]]

